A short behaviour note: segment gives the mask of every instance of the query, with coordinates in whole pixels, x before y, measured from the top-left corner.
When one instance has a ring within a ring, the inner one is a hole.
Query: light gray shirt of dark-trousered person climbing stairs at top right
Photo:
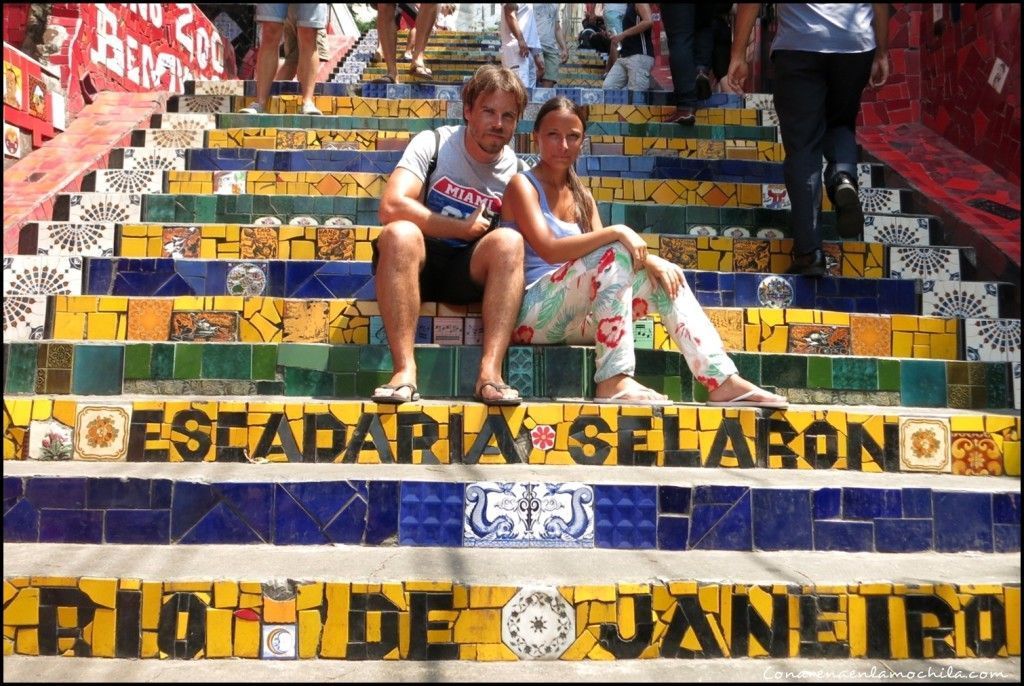
[[[771,49],[867,52],[874,44],[874,9],[866,2],[775,4],[778,30]]]

